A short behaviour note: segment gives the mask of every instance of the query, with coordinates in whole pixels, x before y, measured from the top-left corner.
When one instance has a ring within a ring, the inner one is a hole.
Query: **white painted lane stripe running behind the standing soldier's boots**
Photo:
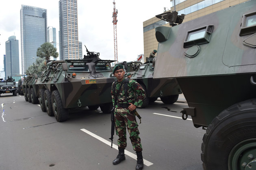
[[[100,137],[100,136],[98,136],[98,135],[95,135],[94,133],[91,133],[90,131],[87,131],[86,129],[80,129],[80,130],[83,131],[83,132],[85,132],[85,133],[87,133],[87,134],[89,134],[89,135],[91,135],[92,137],[94,137],[94,138],[100,140],[101,142],[103,142],[103,143],[105,143],[105,144],[111,146],[111,142],[107,141],[106,139],[104,139],[104,138],[102,138],[102,137]],[[115,148],[116,150],[118,150],[118,146],[117,146],[117,145],[113,144],[112,147]],[[129,157],[131,157],[131,158],[137,160],[137,155],[135,155],[135,154],[133,154],[133,153],[131,153],[131,152],[129,152],[129,151],[126,151],[126,150],[124,150],[124,153],[125,153],[126,155],[128,155]],[[153,165],[152,162],[147,161],[146,159],[143,159],[143,162],[144,162],[144,165],[145,165],[145,166]]]

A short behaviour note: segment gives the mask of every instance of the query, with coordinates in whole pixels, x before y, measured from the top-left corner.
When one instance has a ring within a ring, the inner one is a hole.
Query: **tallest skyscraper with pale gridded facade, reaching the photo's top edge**
[[[77,0],[59,1],[60,59],[81,59],[82,43],[78,41]]]

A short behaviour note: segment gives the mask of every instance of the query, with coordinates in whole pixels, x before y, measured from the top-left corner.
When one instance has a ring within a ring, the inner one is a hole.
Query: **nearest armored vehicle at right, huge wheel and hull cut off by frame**
[[[157,27],[156,39],[154,78],[176,78],[189,106],[182,118],[207,127],[204,170],[256,169],[256,1]]]

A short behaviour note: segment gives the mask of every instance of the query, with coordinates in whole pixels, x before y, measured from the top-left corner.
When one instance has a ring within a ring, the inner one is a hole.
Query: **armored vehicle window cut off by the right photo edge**
[[[256,11],[243,15],[241,30],[239,35],[247,35],[256,32]]]

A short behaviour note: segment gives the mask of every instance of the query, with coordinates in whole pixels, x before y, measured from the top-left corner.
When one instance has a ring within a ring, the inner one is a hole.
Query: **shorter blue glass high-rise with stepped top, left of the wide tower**
[[[20,74],[19,62],[19,40],[16,36],[9,37],[5,42],[6,76],[16,76]]]

